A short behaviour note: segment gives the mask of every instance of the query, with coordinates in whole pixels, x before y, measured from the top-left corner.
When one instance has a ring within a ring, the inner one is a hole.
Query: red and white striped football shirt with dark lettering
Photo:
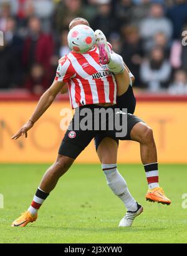
[[[96,103],[116,103],[114,74],[99,62],[98,49],[87,53],[71,51],[59,60],[56,81],[69,84],[72,108]]]

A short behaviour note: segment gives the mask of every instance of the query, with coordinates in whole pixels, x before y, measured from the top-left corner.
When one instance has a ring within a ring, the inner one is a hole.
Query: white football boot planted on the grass
[[[130,212],[127,211],[125,216],[120,220],[119,226],[118,227],[131,227],[133,220],[140,215],[143,212],[143,207],[137,203],[137,211],[136,212]]]

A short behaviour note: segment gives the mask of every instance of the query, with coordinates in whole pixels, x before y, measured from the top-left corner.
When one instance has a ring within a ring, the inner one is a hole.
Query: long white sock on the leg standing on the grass
[[[118,172],[117,165],[102,165],[102,170],[113,193],[122,200],[128,211],[135,212],[137,210],[137,202],[130,194],[125,179]]]

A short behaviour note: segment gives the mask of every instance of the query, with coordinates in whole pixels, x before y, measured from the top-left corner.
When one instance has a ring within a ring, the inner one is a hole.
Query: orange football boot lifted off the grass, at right
[[[160,188],[160,187],[148,190],[145,198],[147,201],[158,202],[158,203],[162,203],[163,205],[170,205],[171,203],[171,200],[166,197],[165,192],[163,191],[163,188]]]

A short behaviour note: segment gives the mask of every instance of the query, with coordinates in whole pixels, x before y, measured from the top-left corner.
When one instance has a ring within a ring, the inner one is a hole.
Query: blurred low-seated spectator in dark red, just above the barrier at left
[[[34,95],[42,95],[48,86],[43,66],[39,63],[33,64],[26,81],[26,89]]]

